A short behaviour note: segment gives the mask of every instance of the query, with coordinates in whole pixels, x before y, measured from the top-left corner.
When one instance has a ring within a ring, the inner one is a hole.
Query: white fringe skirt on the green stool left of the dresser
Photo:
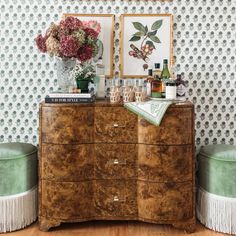
[[[0,233],[26,227],[37,218],[37,186],[27,192],[0,196]]]

